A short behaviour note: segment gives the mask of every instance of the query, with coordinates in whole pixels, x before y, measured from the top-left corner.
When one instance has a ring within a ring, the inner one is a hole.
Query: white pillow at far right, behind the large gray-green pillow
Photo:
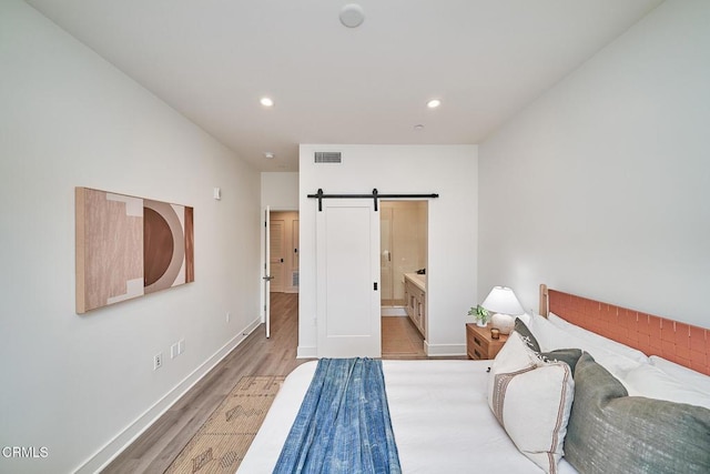
[[[629,389],[629,395],[710,409],[710,395],[693,390],[651,364],[639,365],[629,372],[625,385]]]

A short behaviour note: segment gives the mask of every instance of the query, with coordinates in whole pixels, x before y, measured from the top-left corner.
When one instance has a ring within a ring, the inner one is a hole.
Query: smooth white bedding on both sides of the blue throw
[[[515,447],[486,401],[491,361],[383,361],[392,426],[404,473],[541,472]],[[271,473],[316,362],[280,390],[239,473]],[[564,458],[562,474],[575,473]]]

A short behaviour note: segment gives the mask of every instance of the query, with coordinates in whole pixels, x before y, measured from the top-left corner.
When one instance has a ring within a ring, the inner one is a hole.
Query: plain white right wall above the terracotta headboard
[[[710,2],[667,1],[480,145],[480,295],[709,326]]]

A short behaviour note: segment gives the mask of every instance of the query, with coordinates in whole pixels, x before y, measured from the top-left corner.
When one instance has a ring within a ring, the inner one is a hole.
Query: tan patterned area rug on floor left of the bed
[[[283,376],[242,377],[165,473],[231,473],[252,444]]]

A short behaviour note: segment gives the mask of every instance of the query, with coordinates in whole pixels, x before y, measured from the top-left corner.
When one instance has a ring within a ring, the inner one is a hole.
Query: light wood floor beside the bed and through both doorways
[[[103,473],[163,473],[210,414],[246,375],[287,375],[306,362],[296,359],[298,295],[272,293],[271,337],[261,325]],[[427,359],[423,339],[408,317],[383,317],[383,359]]]

